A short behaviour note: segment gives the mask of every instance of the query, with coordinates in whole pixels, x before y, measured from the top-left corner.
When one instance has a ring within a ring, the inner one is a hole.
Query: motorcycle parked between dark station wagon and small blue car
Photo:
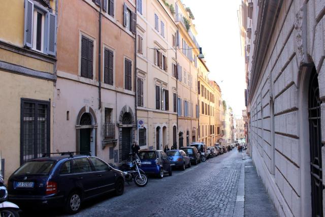
[[[119,170],[123,171],[125,181],[129,184],[130,181],[134,180],[134,183],[139,187],[145,187],[148,183],[148,177],[145,172],[140,169],[141,160],[137,154],[133,156],[132,153],[129,153],[129,160],[127,163],[123,164]]]

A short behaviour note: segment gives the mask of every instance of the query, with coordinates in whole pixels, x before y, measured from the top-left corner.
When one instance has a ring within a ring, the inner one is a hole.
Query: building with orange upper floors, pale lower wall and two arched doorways
[[[136,2],[58,8],[53,149],[125,161],[136,140]]]

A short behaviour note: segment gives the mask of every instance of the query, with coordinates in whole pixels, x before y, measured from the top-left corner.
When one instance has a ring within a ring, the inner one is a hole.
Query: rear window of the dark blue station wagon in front
[[[54,161],[29,161],[23,164],[15,175],[46,175],[52,170]]]

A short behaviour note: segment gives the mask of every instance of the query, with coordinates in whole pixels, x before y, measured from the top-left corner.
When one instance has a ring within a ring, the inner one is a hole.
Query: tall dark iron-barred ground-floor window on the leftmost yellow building
[[[21,100],[20,163],[50,152],[50,102]]]

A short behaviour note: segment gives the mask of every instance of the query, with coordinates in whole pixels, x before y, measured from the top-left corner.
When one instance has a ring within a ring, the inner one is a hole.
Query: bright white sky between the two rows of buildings
[[[215,80],[236,116],[245,107],[245,59],[241,56],[237,10],[241,0],[182,0],[195,17],[210,80]],[[204,3],[204,4],[203,4]]]

